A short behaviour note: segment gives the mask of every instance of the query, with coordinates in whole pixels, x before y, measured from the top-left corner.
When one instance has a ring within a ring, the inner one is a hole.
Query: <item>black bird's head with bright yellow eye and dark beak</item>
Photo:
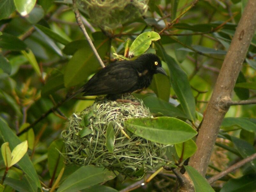
[[[148,69],[151,74],[162,73],[167,76],[166,72],[162,68],[161,60],[157,55],[153,53],[146,53],[139,56],[136,60],[138,60],[139,63],[142,63],[144,69]]]

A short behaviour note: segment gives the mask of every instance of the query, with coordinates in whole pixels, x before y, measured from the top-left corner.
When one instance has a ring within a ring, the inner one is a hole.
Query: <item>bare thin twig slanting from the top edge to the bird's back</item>
[[[88,33],[87,33],[86,29],[85,29],[85,26],[84,26],[84,24],[83,24],[83,22],[82,22],[82,20],[81,20],[80,13],[79,13],[79,10],[78,10],[77,5],[76,5],[76,0],[72,0],[72,1],[73,1],[73,8],[74,8],[74,13],[75,13],[75,15],[76,15],[77,23],[78,23],[80,29],[82,30],[82,32],[84,33],[84,35],[85,35],[85,37],[86,37],[88,43],[90,44],[90,46],[91,46],[91,48],[92,48],[92,50],[93,50],[95,56],[97,57],[99,63],[100,63],[101,66],[104,68],[105,65],[104,65],[104,63],[102,62],[101,57],[100,57],[100,55],[98,54],[96,48],[94,47],[94,44],[93,44],[91,38],[89,37],[89,35],[88,35]]]

